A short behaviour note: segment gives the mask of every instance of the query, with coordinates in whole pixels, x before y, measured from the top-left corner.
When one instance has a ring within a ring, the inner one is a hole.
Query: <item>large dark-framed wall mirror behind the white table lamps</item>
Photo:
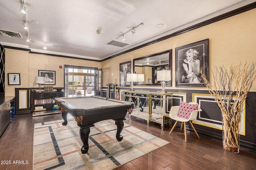
[[[156,73],[160,70],[172,70],[171,66],[172,49],[134,59],[133,72],[144,74],[144,82],[136,82],[136,85],[161,86]],[[171,86],[171,82],[166,82],[166,85]]]

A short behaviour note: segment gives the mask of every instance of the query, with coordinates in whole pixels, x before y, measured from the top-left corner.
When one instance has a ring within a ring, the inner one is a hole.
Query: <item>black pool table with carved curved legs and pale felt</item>
[[[127,112],[132,112],[133,102],[102,98],[98,96],[80,96],[80,97],[62,97],[55,98],[55,102],[60,106],[64,122],[62,125],[67,125],[67,115],[70,113],[75,117],[75,120],[80,127],[80,139],[83,146],[81,152],[88,152],[88,137],[90,127],[94,123],[112,119],[117,126],[116,139],[122,141],[120,135],[124,128],[125,116]]]

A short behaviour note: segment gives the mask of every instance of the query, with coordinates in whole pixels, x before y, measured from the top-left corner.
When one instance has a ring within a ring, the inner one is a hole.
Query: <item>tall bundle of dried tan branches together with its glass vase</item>
[[[241,62],[235,67],[231,65],[229,71],[224,65],[219,69],[216,67],[216,74],[212,71],[213,85],[200,70],[204,84],[222,111],[224,149],[230,149],[232,152],[237,152],[239,149],[241,114],[248,92],[256,78],[255,63],[247,64],[245,61],[242,70],[241,65]]]

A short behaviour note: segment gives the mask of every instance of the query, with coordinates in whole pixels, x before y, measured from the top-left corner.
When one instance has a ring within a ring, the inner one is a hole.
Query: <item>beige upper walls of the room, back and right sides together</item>
[[[37,87],[34,83],[38,70],[55,70],[56,86],[63,86],[64,66],[90,66],[102,68],[103,86],[108,83],[120,84],[119,64],[133,59],[172,49],[172,87],[175,87],[175,47],[209,39],[209,70],[215,71],[215,66],[229,67],[240,61],[244,63],[256,61],[256,9],[238,14],[222,21],[183,33],[159,43],[131,51],[103,62],[84,61],[62,57],[30,54],[28,51],[6,49],[6,96],[14,96],[16,86],[8,85],[7,73],[20,73],[21,85],[17,87]],[[133,66],[132,66],[133,68]],[[112,75],[112,73],[114,73]],[[213,80],[210,72],[210,81]],[[145,88],[145,87],[144,87]],[[155,88],[155,87],[154,87]],[[160,87],[159,87],[160,88]],[[203,88],[206,89],[206,88]],[[256,90],[256,82],[251,90]]]

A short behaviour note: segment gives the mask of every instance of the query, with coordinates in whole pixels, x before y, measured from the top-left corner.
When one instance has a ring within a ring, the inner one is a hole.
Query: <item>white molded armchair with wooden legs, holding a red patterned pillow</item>
[[[190,103],[191,103],[191,104],[197,104],[197,103],[194,103],[194,102],[190,102]],[[172,133],[172,131],[173,131],[174,127],[176,126],[176,124],[178,123],[178,121],[180,121],[180,122],[181,122],[180,131],[182,131],[182,125],[184,124],[185,141],[187,142],[186,122],[189,121],[189,123],[191,124],[192,128],[194,129],[194,131],[195,131],[197,137],[200,138],[199,135],[198,135],[198,133],[196,132],[196,129],[194,128],[194,126],[193,126],[193,124],[192,124],[192,122],[191,122],[192,120],[195,120],[195,119],[196,119],[197,114],[198,114],[198,111],[202,111],[202,109],[200,108],[200,106],[198,106],[198,109],[197,109],[197,110],[192,111],[192,113],[191,113],[189,119],[184,119],[184,118],[182,118],[182,117],[178,117],[179,108],[180,108],[180,106],[172,106],[172,107],[171,107],[169,116],[170,116],[170,118],[171,118],[172,120],[176,120],[176,122],[174,123],[174,125],[173,125],[173,127],[172,127],[172,130],[170,131],[169,135]]]

